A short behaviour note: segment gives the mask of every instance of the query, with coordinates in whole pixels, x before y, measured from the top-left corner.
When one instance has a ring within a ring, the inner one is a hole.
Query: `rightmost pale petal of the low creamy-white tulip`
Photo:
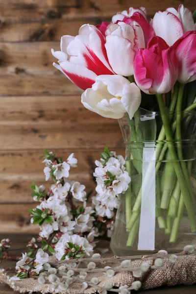
[[[141,104],[141,91],[135,83],[125,85],[123,89],[123,97],[121,99],[123,107],[126,109],[130,120]]]

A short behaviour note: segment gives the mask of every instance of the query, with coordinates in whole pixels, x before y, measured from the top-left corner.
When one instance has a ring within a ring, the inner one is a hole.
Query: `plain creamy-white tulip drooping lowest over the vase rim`
[[[141,103],[141,91],[121,75],[99,75],[82,94],[81,102],[105,118],[120,119],[127,112],[132,119]]]

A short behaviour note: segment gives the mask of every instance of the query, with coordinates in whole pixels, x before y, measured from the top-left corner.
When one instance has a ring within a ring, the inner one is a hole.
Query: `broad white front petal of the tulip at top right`
[[[155,13],[152,27],[156,36],[163,38],[169,46],[172,46],[183,35],[183,27],[180,20],[168,11]]]

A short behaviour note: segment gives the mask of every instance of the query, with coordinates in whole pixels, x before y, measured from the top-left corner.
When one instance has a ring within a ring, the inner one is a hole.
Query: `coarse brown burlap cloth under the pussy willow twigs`
[[[111,256],[111,254],[109,255]],[[107,254],[107,257],[109,257]],[[106,257],[106,254],[104,254]],[[146,260],[150,265],[154,264],[154,258]],[[143,260],[132,261],[133,267],[139,267]],[[119,261],[115,261],[109,264],[110,267],[118,267]],[[108,265],[108,264],[107,264]],[[192,285],[196,283],[196,255],[183,255],[179,256],[176,263],[171,263],[169,259],[164,259],[164,265],[167,270],[149,270],[143,274],[139,279],[132,276],[132,272],[124,271],[116,273],[114,277],[108,278],[106,275],[101,273],[89,273],[87,280],[91,280],[92,277],[96,276],[99,279],[99,285],[103,286],[106,281],[112,281],[116,287],[127,285],[130,286],[134,280],[140,280],[142,282],[142,289],[152,289],[162,285],[174,286],[174,285]],[[101,267],[104,267],[102,265]],[[51,285],[44,284],[40,285],[37,280],[32,278],[24,279],[21,281],[12,281],[5,271],[0,271],[0,282],[8,284],[13,290],[19,291],[20,293],[32,293],[41,292],[45,293],[57,293],[52,292]],[[95,293],[96,289],[89,287],[84,292],[81,291],[80,284],[74,282],[70,287],[69,291],[59,291],[59,294],[92,294]]]

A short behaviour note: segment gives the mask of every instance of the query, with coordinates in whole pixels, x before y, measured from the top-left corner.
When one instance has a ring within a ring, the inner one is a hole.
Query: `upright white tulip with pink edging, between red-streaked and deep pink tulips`
[[[133,62],[139,48],[145,48],[142,28],[138,23],[111,23],[105,31],[105,48],[109,63],[117,74],[133,74]]]

